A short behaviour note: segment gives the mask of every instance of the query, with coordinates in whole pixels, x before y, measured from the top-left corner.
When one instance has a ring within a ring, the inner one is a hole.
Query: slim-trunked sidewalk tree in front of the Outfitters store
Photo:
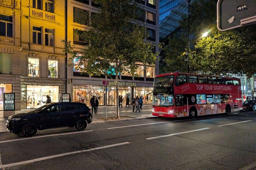
[[[156,44],[147,42],[145,27],[137,22],[139,7],[132,0],[95,0],[100,4],[97,14],[82,13],[76,22],[87,24],[86,31],[77,34],[86,38],[88,44],[82,49],[79,70],[89,74],[104,74],[116,84],[116,118],[119,118],[118,73],[127,71],[138,76],[136,62],[154,65],[158,52]],[[89,28],[89,29],[87,29]],[[77,57],[70,42],[65,42],[65,51]],[[116,75],[115,79],[111,75]]]

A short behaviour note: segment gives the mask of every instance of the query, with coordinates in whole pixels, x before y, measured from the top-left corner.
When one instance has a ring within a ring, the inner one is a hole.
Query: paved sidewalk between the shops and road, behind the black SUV
[[[145,107],[142,107],[141,112],[137,112],[135,113],[132,112],[132,106],[130,107],[125,107],[125,105],[123,107],[119,108],[119,117],[122,119],[122,116],[128,116],[131,118],[148,118],[148,117],[154,117],[152,115],[152,109],[151,109],[152,105],[145,105]],[[90,108],[91,109],[91,108]],[[22,109],[19,111],[15,111],[15,114],[18,113],[24,113],[24,112],[29,112],[32,111],[34,109]],[[135,108],[136,110],[136,108]],[[116,107],[115,106],[107,106],[107,118],[109,117],[115,117],[116,116]],[[102,118],[105,118],[105,106],[99,106],[98,107],[98,113],[97,114],[93,114],[93,121],[92,123],[100,123],[100,122],[104,122],[102,120]],[[3,111],[0,111],[0,132],[7,132],[6,128],[5,128],[5,124],[6,124],[6,120],[7,118],[3,118]]]

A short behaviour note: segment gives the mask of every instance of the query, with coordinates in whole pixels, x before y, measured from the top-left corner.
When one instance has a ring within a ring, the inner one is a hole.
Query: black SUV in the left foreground
[[[9,132],[33,136],[37,129],[76,127],[84,130],[92,122],[91,109],[83,103],[49,103],[34,111],[12,115],[6,128]]]

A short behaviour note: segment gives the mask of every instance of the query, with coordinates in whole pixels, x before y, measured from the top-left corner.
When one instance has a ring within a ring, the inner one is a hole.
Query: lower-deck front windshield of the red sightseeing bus
[[[156,95],[154,95],[153,106],[158,106],[158,107],[174,106],[173,94],[156,94]]]

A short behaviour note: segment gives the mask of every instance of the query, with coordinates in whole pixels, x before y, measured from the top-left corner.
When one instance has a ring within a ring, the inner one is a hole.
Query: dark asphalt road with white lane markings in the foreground
[[[255,161],[255,112],[0,133],[0,164],[10,170],[239,170]]]

